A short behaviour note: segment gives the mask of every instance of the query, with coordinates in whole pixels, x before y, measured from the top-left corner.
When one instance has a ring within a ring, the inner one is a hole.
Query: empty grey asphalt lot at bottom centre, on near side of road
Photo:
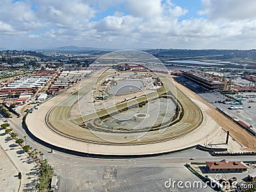
[[[169,179],[191,183],[200,180],[182,166],[91,166],[83,169],[83,173],[73,168],[68,168],[66,173],[76,177],[76,180],[60,177],[59,185],[64,191],[198,191],[179,189],[177,186],[168,189],[164,183]]]

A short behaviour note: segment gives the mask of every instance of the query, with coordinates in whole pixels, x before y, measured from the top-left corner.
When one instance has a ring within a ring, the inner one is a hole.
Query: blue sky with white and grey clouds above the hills
[[[1,0],[0,47],[255,49],[255,0]]]

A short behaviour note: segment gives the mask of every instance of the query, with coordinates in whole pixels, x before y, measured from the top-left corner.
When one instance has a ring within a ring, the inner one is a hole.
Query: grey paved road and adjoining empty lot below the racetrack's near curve
[[[44,158],[54,166],[60,179],[58,191],[104,191],[105,189],[112,189],[111,191],[198,191],[196,189],[166,189],[164,182],[169,178],[191,182],[198,180],[183,166],[189,163],[191,157],[199,162],[220,161],[221,159],[255,160],[255,157],[251,156],[212,157],[209,153],[196,149],[136,159],[97,159],[73,156],[58,151],[51,154],[50,148],[29,138],[19,120],[12,118],[10,123],[15,132],[19,135],[26,135],[27,143],[42,151]],[[114,179],[103,179],[104,175],[115,170],[117,170],[117,176]],[[212,191],[212,189],[204,189],[204,191]]]

